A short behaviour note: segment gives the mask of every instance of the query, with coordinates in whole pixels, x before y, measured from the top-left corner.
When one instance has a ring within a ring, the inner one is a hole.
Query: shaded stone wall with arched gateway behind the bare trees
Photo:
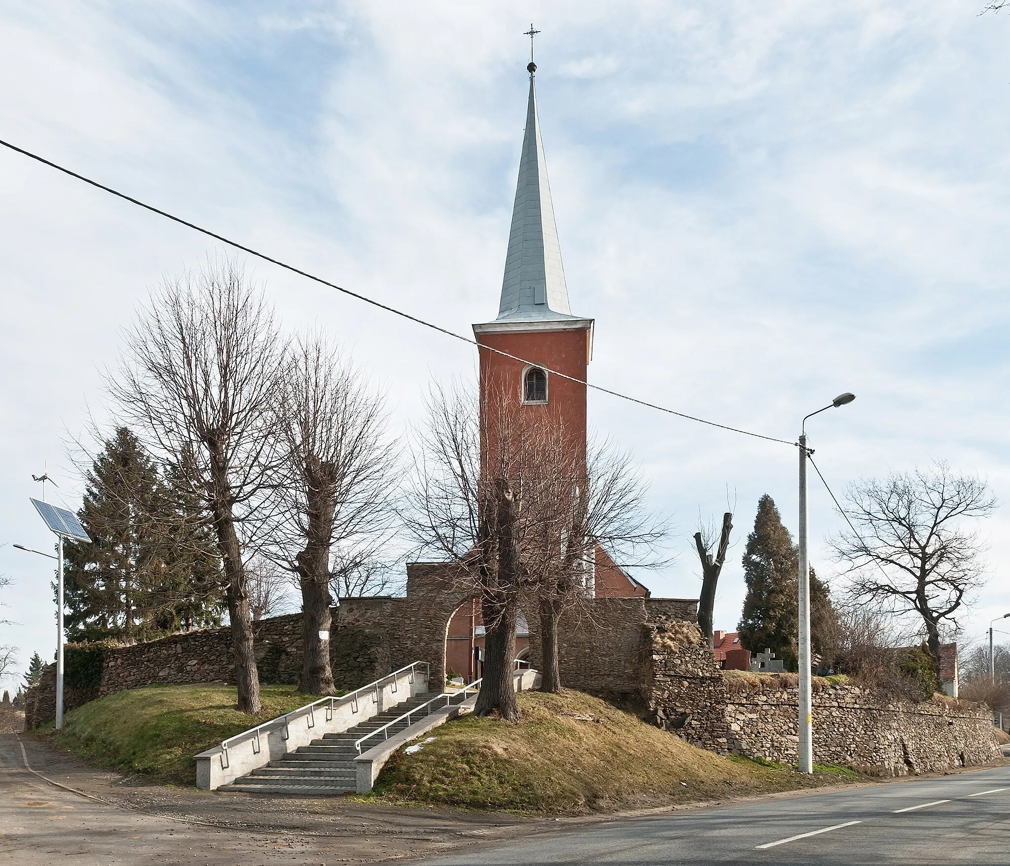
[[[407,597],[346,598],[333,608],[330,665],[339,689],[358,688],[414,661],[431,664],[431,682],[444,679],[449,619],[472,590],[456,585],[451,566],[410,563]],[[563,623],[562,674],[573,688],[643,693],[649,616],[694,619],[697,602],[685,599],[596,598],[582,616]],[[526,609],[535,654],[539,622]],[[302,615],[274,616],[254,623],[260,681],[297,683],[302,664]],[[534,659],[534,667],[536,662]],[[97,686],[75,689],[68,682],[67,711],[95,697],[145,685],[234,682],[231,630],[208,629],[128,647],[103,650]],[[48,671],[29,690],[29,727],[56,715],[56,674]]]

